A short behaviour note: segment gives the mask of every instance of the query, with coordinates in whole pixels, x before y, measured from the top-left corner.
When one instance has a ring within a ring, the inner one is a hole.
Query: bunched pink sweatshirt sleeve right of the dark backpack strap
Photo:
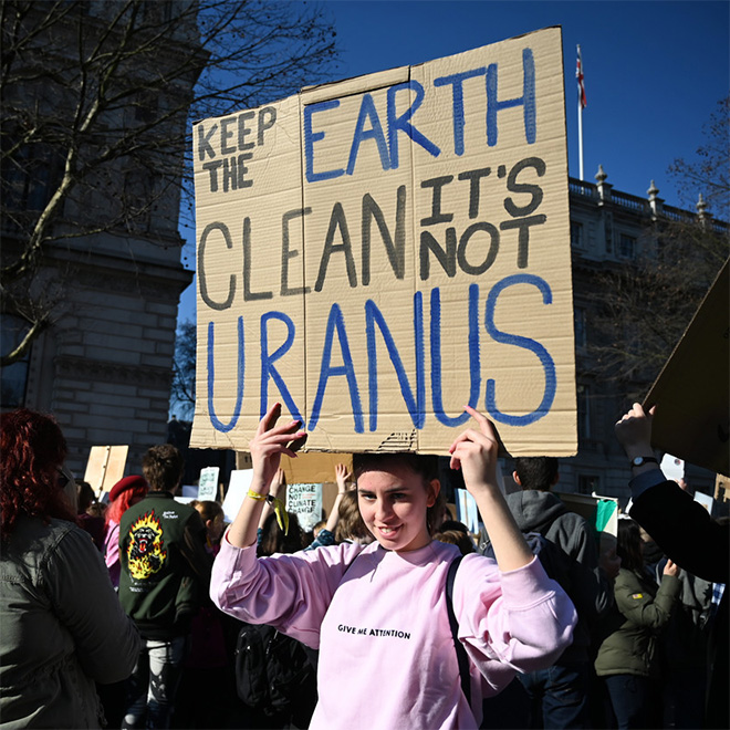
[[[551,666],[573,639],[571,599],[536,557],[507,573],[487,560],[467,555],[455,584],[459,638],[471,659],[486,677],[490,660],[522,672]]]

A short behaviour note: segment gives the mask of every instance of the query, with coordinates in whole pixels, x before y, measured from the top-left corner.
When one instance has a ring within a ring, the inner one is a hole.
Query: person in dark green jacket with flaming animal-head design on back
[[[175,499],[184,466],[170,444],[149,448],[142,461],[149,492],[119,522],[119,603],[143,638],[127,680],[125,729],[169,727],[192,618],[208,597],[206,525]]]

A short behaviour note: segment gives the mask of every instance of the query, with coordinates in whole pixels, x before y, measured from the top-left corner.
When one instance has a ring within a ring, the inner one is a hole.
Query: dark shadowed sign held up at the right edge
[[[730,260],[644,401],[655,447],[730,474]]]

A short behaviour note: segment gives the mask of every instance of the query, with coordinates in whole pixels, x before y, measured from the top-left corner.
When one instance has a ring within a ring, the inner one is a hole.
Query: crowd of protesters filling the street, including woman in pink
[[[640,406],[615,540],[553,494],[555,459],[515,459],[505,499],[477,411],[450,466],[481,540],[413,455],[338,465],[305,532],[279,469],[305,434],[279,416],[228,530],[175,499],[173,446],[102,503],[52,417],[1,416],[0,728],[728,727],[727,520],[664,478]]]

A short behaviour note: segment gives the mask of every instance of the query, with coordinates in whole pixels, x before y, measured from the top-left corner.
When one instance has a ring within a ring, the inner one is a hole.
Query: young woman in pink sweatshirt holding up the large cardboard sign
[[[573,605],[530,552],[497,486],[493,426],[467,410],[478,428],[453,441],[451,468],[461,469],[497,555],[465,556],[453,585],[470,703],[445,587],[459,551],[429,531],[440,490],[432,459],[355,455],[359,509],[376,542],[257,559],[258,519],[281,455],[295,456],[306,438],[299,421],[277,425],[279,405],[259,424],[251,489],[223,536],[211,596],[241,620],[271,624],[320,649],[312,728],[477,728],[482,696],[518,670],[550,666],[571,642]]]

